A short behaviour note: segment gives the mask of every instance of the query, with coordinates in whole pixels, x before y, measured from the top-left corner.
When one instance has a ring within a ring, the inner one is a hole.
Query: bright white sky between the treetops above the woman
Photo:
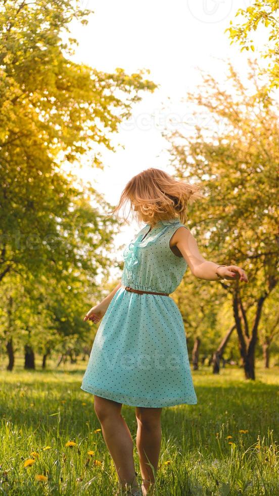
[[[167,142],[161,133],[173,129],[171,118],[191,118],[180,100],[200,80],[198,68],[218,79],[224,74],[224,60],[231,60],[246,72],[246,56],[237,45],[230,46],[224,30],[248,0],[82,0],[94,10],[87,26],[74,22],[72,34],[78,39],[74,59],[103,71],[123,68],[127,73],[150,69],[148,76],[160,85],[154,94],[143,93],[134,106],[132,118],[123,123],[114,143],[117,152],[103,154],[104,171],[83,166],[75,171],[98,187],[112,204],[127,181],[144,169],[156,167],[172,172]],[[165,107],[164,110],[163,107]],[[190,126],[191,128],[191,126]],[[191,129],[190,129],[191,130]],[[189,125],[188,125],[189,131]],[[127,243],[138,227],[122,229],[116,243]]]

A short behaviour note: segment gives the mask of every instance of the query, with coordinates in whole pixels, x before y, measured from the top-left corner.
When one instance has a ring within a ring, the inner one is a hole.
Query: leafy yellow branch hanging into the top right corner
[[[236,16],[242,16],[242,22],[226,29],[229,32],[231,43],[239,43],[241,51],[255,51],[252,33],[259,26],[266,28],[267,44],[262,56],[268,60],[267,72],[269,85],[261,88],[262,95],[267,96],[270,90],[279,88],[279,1],[261,0],[252,3],[247,9],[239,9]],[[265,70],[265,69],[264,69]]]

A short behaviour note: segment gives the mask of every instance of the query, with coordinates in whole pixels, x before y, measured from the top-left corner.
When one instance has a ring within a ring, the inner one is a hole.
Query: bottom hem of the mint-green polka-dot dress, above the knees
[[[146,408],[163,408],[163,407],[167,407],[167,406],[176,406],[176,405],[196,405],[198,403],[198,401],[189,401],[189,400],[185,400],[185,399],[177,399],[177,400],[172,400],[170,403],[167,403],[164,402],[164,404],[156,404],[156,405],[152,405],[150,404],[149,400],[146,400],[146,401],[137,401],[136,398],[128,398],[126,395],[123,395],[121,393],[117,394],[117,393],[111,393],[109,391],[102,391],[101,389],[98,389],[98,388],[91,388],[91,387],[86,387],[86,386],[80,386],[80,389],[82,389],[83,391],[85,391],[86,393],[90,393],[90,394],[96,394],[96,396],[101,396],[102,398],[106,398],[106,399],[110,399],[112,401],[116,401],[118,403],[123,403],[125,405],[128,405],[128,406],[143,406],[143,407],[146,407]],[[101,391],[101,393],[99,392]],[[135,404],[136,403],[136,404]],[[145,404],[143,404],[145,403]],[[149,403],[149,404],[147,404]],[[152,401],[151,401],[152,403]]]

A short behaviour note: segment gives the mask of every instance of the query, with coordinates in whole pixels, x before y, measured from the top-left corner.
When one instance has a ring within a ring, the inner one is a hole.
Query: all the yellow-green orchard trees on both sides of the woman
[[[207,192],[188,215],[203,255],[249,276],[240,286],[187,272],[173,297],[193,366],[208,356],[217,373],[229,357],[248,379],[256,358],[266,367],[279,360],[278,10],[269,0],[240,12],[227,34],[254,54],[251,36],[263,25],[265,63],[251,60],[245,80],[226,64],[223,86],[204,75],[185,96],[192,135],[165,132],[176,175]],[[17,353],[25,368],[35,367],[36,354],[43,367],[52,353],[86,354],[92,334],[81,315],[101,297],[98,276],[121,269],[110,257],[119,227],[107,215],[112,205],[65,170],[88,157],[92,176],[102,169],[102,147],[113,150],[133,104],[157,87],[145,71],[106,73],[71,60],[70,22],[90,15],[70,0],[0,0],[0,338],[8,370]]]

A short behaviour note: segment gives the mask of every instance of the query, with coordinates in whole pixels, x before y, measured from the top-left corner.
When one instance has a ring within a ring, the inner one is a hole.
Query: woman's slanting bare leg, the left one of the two
[[[100,421],[103,436],[114,462],[120,485],[136,487],[133,461],[133,440],[121,415],[122,403],[94,396],[94,409]]]

